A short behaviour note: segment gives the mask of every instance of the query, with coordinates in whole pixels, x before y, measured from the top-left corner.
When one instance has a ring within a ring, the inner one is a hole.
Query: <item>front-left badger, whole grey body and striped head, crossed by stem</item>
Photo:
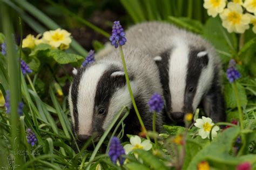
[[[127,71],[140,116],[146,129],[152,129],[152,113],[147,102],[154,93],[163,96],[156,63],[138,49],[125,48]],[[140,124],[132,107],[119,50],[89,66],[80,68],[70,87],[69,105],[73,128],[78,139],[86,140],[97,132],[98,138],[109,127],[124,105],[130,108],[125,133],[138,134]],[[163,124],[157,115],[157,130]]]

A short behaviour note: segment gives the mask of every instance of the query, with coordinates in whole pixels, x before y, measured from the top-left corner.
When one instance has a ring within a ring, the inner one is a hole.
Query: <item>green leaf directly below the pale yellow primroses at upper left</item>
[[[62,65],[84,60],[83,56],[66,53],[59,49],[52,49],[48,53],[46,53],[46,55],[53,58],[56,62]]]

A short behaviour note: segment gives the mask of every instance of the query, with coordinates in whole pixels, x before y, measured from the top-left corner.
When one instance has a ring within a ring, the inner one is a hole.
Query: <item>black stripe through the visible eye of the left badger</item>
[[[98,82],[92,122],[92,132],[97,132],[98,136],[104,133],[102,126],[109,111],[111,97],[126,84],[125,75],[111,76],[112,73],[118,71],[120,71],[119,68],[110,67]],[[132,77],[130,77],[130,81],[132,81]]]

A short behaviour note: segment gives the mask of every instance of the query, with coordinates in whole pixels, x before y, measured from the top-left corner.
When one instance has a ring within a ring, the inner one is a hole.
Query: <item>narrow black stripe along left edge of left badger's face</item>
[[[79,88],[79,83],[82,78],[83,73],[85,72],[85,69],[87,67],[83,67],[78,70],[77,74],[75,75],[71,87],[71,100],[73,104],[73,117],[74,117],[74,131],[78,131],[78,110],[77,110],[77,98],[78,98],[78,88]]]

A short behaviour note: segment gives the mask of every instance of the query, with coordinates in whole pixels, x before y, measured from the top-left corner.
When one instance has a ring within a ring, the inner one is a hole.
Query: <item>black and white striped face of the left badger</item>
[[[131,87],[136,86],[132,76],[130,81]],[[131,105],[122,68],[96,63],[79,69],[70,87],[69,105],[78,139],[84,141],[93,133],[102,136],[118,111]]]

